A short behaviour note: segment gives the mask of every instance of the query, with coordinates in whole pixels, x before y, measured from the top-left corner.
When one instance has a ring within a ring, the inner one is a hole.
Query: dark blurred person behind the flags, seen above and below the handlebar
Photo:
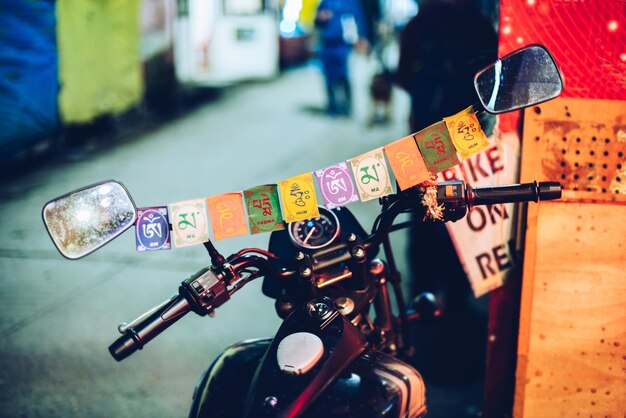
[[[495,60],[498,39],[476,3],[426,0],[402,31],[396,81],[410,96],[411,132],[478,101],[474,74]],[[412,292],[431,292],[445,306],[438,324],[418,330],[418,370],[440,384],[483,377],[487,312],[473,301],[445,224],[419,222],[411,229],[409,265]]]

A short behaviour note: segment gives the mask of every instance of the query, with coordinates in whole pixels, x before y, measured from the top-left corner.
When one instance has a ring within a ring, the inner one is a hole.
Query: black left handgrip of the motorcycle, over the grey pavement
[[[124,335],[109,346],[109,352],[115,360],[124,360],[135,351],[141,350],[150,340],[165,331],[189,311],[189,302],[184,297],[173,296],[152,309],[145,317],[141,317],[126,326]]]

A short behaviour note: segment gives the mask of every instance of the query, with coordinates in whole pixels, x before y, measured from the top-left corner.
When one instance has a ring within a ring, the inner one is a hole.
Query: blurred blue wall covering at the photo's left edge
[[[59,129],[53,1],[0,5],[0,163]]]

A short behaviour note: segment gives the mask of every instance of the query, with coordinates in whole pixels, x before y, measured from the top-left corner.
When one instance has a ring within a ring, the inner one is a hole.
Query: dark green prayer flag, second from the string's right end
[[[428,170],[437,174],[457,164],[459,159],[446,124],[440,121],[414,134]]]

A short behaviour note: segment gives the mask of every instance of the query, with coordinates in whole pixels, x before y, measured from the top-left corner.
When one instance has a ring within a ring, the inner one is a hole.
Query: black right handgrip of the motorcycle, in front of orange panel
[[[468,203],[489,205],[494,203],[537,202],[561,197],[561,184],[554,181],[514,184],[507,186],[468,188]]]

